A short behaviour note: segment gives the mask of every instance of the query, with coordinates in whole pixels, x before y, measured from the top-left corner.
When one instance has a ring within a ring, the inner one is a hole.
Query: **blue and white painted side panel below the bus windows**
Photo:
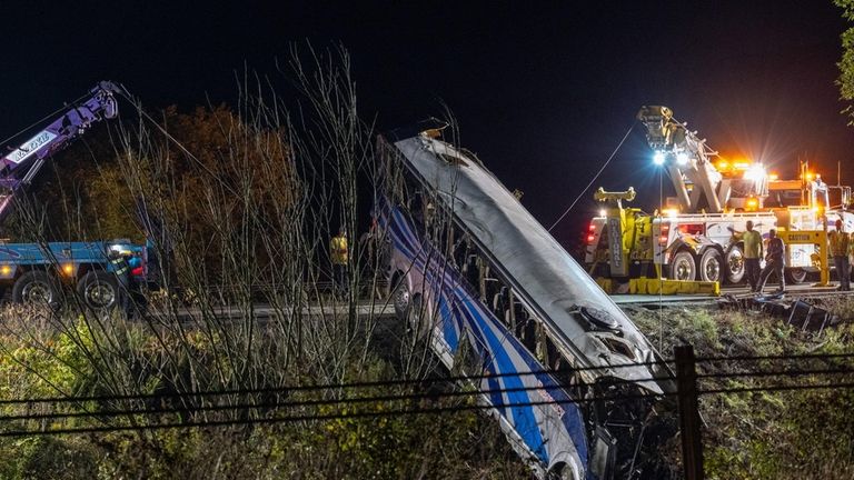
[[[436,261],[435,249],[424,241],[403,211],[391,209],[380,227],[387,229],[394,246],[391,264],[408,270],[408,290],[419,292],[424,311],[438,312],[429,341],[445,367],[454,368],[460,339],[467,337],[474,353],[484,360],[481,371],[467,373],[504,376],[483,379],[479,387],[484,391],[510,390],[484,396],[480,401],[497,406],[493,413],[517,452],[539,477],[545,477],[547,469],[566,464],[574,471],[570,478],[583,478],[582,472],[587,471],[584,420],[557,380],[546,373],[513,374],[540,372],[545,368],[477,300],[456,270],[444,269]],[[557,403],[530,406],[553,400]]]

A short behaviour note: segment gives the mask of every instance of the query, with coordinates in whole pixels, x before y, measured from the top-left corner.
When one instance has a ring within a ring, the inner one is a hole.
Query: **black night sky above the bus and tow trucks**
[[[671,107],[722,153],[781,173],[808,158],[831,183],[842,161],[843,183],[854,183],[854,129],[834,84],[846,23],[831,0],[218,3],[4,1],[0,138],[101,79],[151,108],[230,101],[236,72],[280,81],[275,59],[308,39],[349,50],[360,111],[380,129],[446,103],[461,143],[523,190],[547,227],[643,104]],[[639,124],[558,240],[576,240],[599,186],[634,186],[636,203],[654,208],[658,179]]]

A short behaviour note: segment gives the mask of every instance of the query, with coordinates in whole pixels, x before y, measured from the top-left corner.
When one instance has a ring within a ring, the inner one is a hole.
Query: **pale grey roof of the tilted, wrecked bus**
[[[564,337],[582,366],[656,359],[653,346],[632,320],[478,160],[424,136],[394,144],[408,169],[453,210],[461,227],[519,292],[523,303]],[[649,379],[649,369],[640,366],[605,369],[603,373],[626,380]],[[655,382],[642,384],[661,392]]]

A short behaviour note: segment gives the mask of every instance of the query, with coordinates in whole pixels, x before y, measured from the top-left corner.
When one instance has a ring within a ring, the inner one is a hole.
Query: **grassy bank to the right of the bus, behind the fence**
[[[703,308],[633,312],[665,357],[683,342],[697,357],[804,356],[854,352],[854,299],[825,300],[842,322],[821,337],[764,313]],[[663,322],[663,323],[662,323]],[[664,338],[661,338],[661,332]],[[704,362],[701,374],[854,369],[854,359]],[[852,374],[716,377],[701,389],[848,382]],[[854,389],[757,391],[701,397],[705,472],[709,479],[854,478]],[[678,449],[678,442],[672,448]],[[678,451],[671,452],[679,458]]]

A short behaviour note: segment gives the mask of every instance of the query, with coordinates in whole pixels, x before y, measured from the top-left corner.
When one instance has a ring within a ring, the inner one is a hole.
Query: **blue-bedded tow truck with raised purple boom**
[[[118,116],[119,86],[102,81],[34,136],[0,159],[0,226],[50,158],[93,124]],[[73,289],[91,309],[112,309],[148,282],[146,246],[129,240],[9,243],[0,241],[0,289],[21,303],[59,307]],[[67,287],[67,288],[63,288]]]

